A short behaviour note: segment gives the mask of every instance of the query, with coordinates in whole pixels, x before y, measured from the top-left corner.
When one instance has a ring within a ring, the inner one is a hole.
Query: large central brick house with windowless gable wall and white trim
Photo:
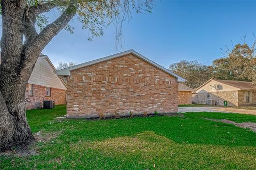
[[[185,79],[133,50],[58,70],[67,78],[67,116],[178,111]]]

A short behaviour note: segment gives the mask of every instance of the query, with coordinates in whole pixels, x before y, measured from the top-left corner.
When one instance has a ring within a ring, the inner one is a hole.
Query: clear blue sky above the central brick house
[[[55,16],[54,12],[50,17]],[[88,31],[82,30],[76,19],[70,22],[75,33],[62,30],[43,53],[55,66],[58,62],[83,63],[129,49],[168,67],[180,60],[198,60],[211,64],[223,56],[220,48],[247,42],[256,33],[256,1],[156,1],[153,13],[133,13],[130,22],[124,22],[124,44],[115,47],[115,27],[105,34],[87,41]]]

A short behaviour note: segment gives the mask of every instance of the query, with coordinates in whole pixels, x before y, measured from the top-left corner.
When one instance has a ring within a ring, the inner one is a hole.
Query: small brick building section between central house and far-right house
[[[192,92],[194,90],[183,83],[179,83],[179,104],[192,104]]]

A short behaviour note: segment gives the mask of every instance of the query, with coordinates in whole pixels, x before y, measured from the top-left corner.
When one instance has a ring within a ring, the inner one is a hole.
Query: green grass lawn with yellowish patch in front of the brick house
[[[256,116],[186,113],[184,117],[57,120],[65,106],[27,111],[32,156],[0,156],[0,169],[256,169],[256,133],[221,122]],[[53,137],[53,138],[51,138]]]

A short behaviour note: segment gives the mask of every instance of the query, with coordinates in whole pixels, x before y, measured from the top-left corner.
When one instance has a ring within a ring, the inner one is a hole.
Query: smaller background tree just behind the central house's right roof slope
[[[191,88],[196,88],[212,78],[213,69],[197,61],[186,61],[171,64],[169,70],[185,78],[185,84]]]

